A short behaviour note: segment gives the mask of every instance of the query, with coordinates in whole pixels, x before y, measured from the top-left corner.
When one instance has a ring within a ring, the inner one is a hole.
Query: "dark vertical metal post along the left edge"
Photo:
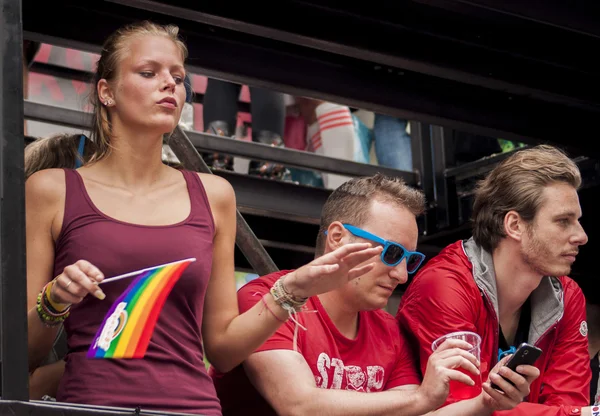
[[[0,0],[1,394],[28,400],[21,1]]]

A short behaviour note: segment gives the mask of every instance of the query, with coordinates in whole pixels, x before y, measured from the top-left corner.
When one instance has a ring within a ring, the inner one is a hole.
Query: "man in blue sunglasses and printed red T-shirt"
[[[346,285],[304,299],[304,307],[290,313],[242,366],[227,374],[211,370],[224,415],[416,416],[444,403],[451,380],[472,384],[465,373],[479,370],[477,359],[467,352],[469,344],[446,341],[428,360],[422,378],[393,316],[382,310],[396,286],[424,260],[415,250],[416,217],[423,210],[420,191],[381,175],[352,179],[330,195],[321,215],[316,259],[246,284],[238,291],[240,311],[260,302],[280,277],[285,276],[285,284],[345,246],[368,242],[378,250],[356,266],[360,276],[349,274]],[[292,298],[290,307],[302,298],[282,296]],[[279,312],[265,305],[265,314],[281,319],[285,315]],[[490,414],[514,407],[522,397],[521,392],[500,397],[494,406],[481,399],[466,401],[443,414]]]

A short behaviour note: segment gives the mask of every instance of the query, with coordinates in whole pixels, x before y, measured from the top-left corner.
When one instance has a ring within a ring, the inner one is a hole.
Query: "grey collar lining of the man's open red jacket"
[[[491,253],[478,246],[473,237],[463,241],[463,250],[473,265],[473,278],[484,292],[498,318],[498,290]],[[540,285],[531,293],[531,324],[529,343],[535,344],[552,325],[558,322],[564,312],[563,288],[556,277],[545,276]]]

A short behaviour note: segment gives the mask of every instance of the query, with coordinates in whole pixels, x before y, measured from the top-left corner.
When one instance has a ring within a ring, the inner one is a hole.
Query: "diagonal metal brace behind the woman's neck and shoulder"
[[[212,171],[209,169],[206,163],[204,163],[202,156],[200,156],[200,153],[198,153],[181,127],[177,126],[171,135],[169,146],[171,149],[173,149],[173,152],[186,169],[212,174]],[[256,235],[248,226],[248,223],[246,223],[246,220],[242,214],[240,214],[240,211],[237,208],[235,210],[235,214],[235,242],[240,250],[242,250],[244,253],[244,256],[246,256],[246,259],[248,259],[248,262],[252,268],[259,275],[265,275],[278,271],[279,269],[263,245],[260,243],[260,241],[258,241],[258,238],[256,238]]]

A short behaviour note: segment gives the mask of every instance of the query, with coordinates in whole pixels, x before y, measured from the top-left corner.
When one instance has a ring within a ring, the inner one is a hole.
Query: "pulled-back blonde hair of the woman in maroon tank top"
[[[96,152],[92,156],[92,161],[100,160],[110,153],[112,137],[110,116],[98,96],[98,82],[102,79],[110,82],[118,76],[119,64],[127,51],[127,44],[133,38],[140,36],[164,36],[172,40],[179,48],[183,61],[185,62],[187,59],[187,47],[179,39],[179,28],[174,25],[162,26],[149,21],[143,21],[124,26],[106,39],[100,59],[98,60],[90,95],[90,102],[94,109],[91,139],[96,143]]]

